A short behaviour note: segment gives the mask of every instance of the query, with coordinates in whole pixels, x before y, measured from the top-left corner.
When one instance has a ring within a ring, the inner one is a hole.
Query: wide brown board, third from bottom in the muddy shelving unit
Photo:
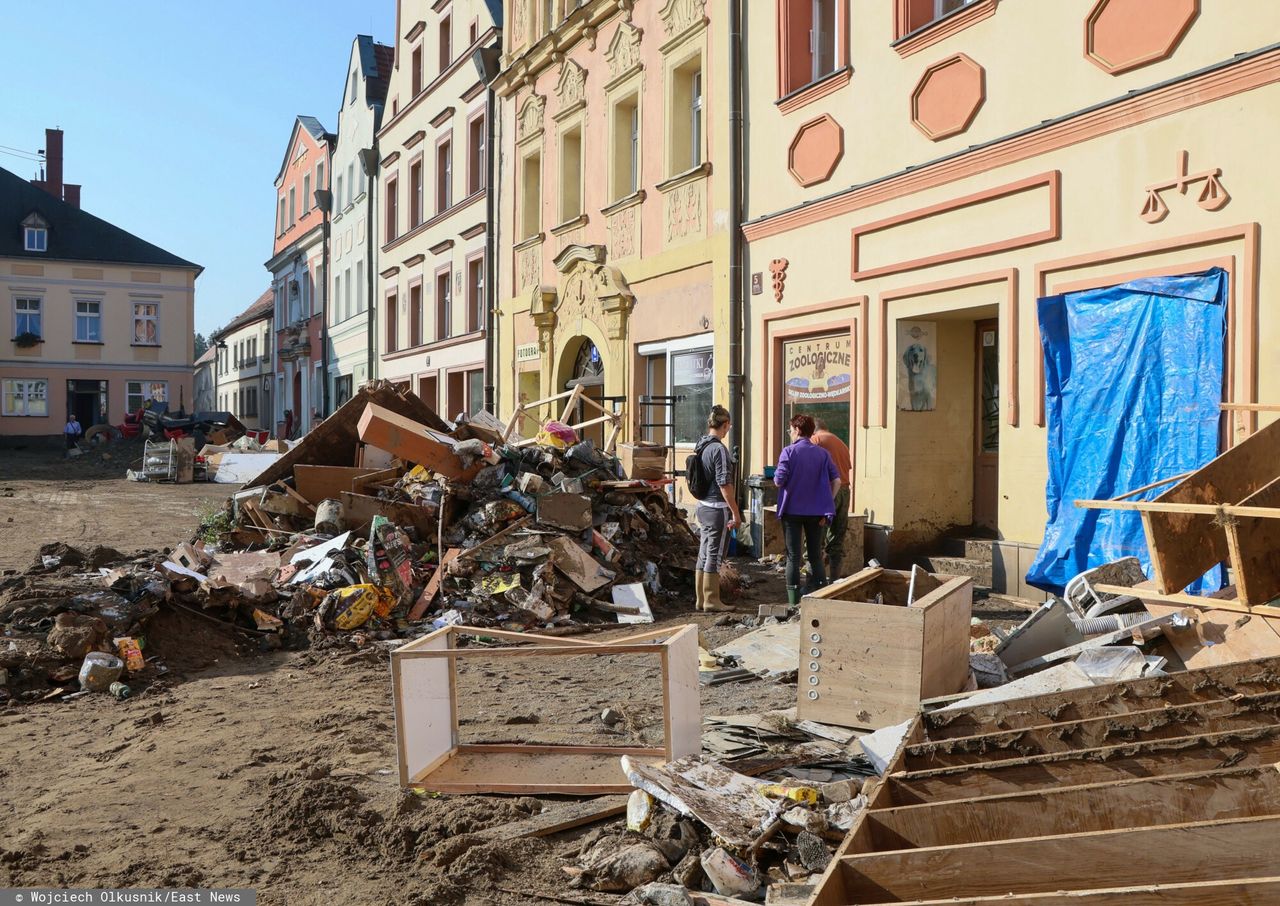
[[[874,810],[877,851],[1280,814],[1275,765]]]

